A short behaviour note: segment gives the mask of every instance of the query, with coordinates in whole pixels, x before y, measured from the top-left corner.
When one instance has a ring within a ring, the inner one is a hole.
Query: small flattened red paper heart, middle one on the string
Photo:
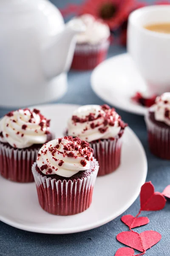
[[[147,217],[136,218],[130,214],[122,216],[121,221],[123,221],[128,227],[131,228],[140,227],[149,223],[149,219]]]

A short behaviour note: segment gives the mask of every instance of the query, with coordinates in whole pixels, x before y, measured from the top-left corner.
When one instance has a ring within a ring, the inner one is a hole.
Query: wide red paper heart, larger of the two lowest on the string
[[[153,245],[157,244],[161,240],[161,234],[153,230],[147,230],[140,233],[140,236],[136,232],[125,231],[119,233],[116,236],[117,240],[122,244],[125,244],[133,249],[139,250],[140,252],[144,252],[149,249]],[[143,242],[143,248],[141,244],[141,240]]]

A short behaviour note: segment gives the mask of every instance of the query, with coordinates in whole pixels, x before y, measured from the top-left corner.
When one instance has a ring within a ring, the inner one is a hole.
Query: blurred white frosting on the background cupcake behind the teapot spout
[[[101,40],[106,40],[110,36],[109,26],[102,23],[100,20],[96,20],[92,15],[85,14],[74,19],[82,20],[86,26],[85,32],[77,35],[77,43],[84,44],[98,44]]]

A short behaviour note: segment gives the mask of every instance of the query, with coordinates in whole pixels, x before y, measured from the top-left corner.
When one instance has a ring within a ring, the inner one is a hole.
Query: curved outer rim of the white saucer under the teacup
[[[107,62],[111,61],[111,59],[115,60],[117,58],[123,58],[125,56],[130,56],[128,52],[125,52],[125,53],[122,53],[122,54],[119,54],[119,55],[115,55],[111,58],[108,58],[106,59],[105,61],[103,61],[102,63],[100,63],[97,67],[95,67],[95,69],[93,70],[93,72],[91,73],[91,88],[92,90],[94,91],[94,93],[102,100],[104,100],[105,102],[108,102],[108,104],[111,104],[113,105],[114,107],[120,109],[120,110],[123,110],[123,111],[126,111],[128,113],[134,113],[134,114],[137,114],[137,115],[140,115],[140,116],[144,116],[144,114],[146,113],[146,110],[147,108],[144,107],[144,106],[140,106],[138,105],[137,103],[135,104],[130,104],[131,106],[134,105],[134,109],[133,108],[123,108],[121,105],[117,104],[117,103],[113,103],[110,99],[107,99],[107,97],[103,96],[103,94],[99,93],[97,90],[96,90],[96,82],[94,82],[95,80],[95,76],[96,76],[96,72],[98,71],[98,69],[100,69],[103,65],[105,65]],[[135,106],[137,107],[137,109],[135,108]]]

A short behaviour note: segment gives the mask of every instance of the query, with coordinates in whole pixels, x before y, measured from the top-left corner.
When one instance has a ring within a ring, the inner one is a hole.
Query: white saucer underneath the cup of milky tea
[[[144,115],[146,108],[130,99],[136,92],[146,91],[146,85],[128,53],[99,64],[91,75],[91,86],[105,102],[127,112]]]

